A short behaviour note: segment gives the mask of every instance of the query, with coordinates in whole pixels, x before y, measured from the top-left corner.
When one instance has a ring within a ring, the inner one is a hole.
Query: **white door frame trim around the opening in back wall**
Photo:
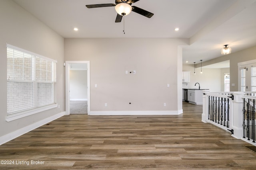
[[[66,115],[70,114],[70,64],[87,64],[87,113],[90,112],[90,61],[66,61]]]

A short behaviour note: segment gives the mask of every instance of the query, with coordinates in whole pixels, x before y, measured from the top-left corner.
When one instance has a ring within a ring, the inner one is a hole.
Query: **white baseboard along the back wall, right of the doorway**
[[[89,111],[88,115],[179,115],[183,110],[177,111]]]

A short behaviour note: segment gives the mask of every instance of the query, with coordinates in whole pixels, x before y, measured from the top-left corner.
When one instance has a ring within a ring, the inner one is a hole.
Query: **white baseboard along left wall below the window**
[[[58,119],[58,118],[64,116],[66,114],[65,112],[66,111],[58,113],[58,114],[53,115],[51,117],[47,117],[46,119],[43,119],[41,121],[38,121],[36,123],[33,123],[33,124],[28,125],[26,127],[23,127],[21,129],[18,129],[18,130],[14,131],[14,132],[11,132],[11,133],[8,133],[8,134],[6,134],[4,136],[1,136],[0,137],[0,145],[4,144],[6,142],[9,142],[12,139],[15,139],[16,137],[24,135],[25,133],[28,133],[28,132],[30,132],[30,131],[32,131],[32,130],[34,130],[34,129],[42,126],[42,125],[45,125],[46,123],[49,123],[50,121],[53,121],[55,119]]]

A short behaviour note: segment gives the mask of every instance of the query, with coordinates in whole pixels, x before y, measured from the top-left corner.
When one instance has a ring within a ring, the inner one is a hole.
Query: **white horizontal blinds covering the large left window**
[[[56,61],[7,44],[7,115],[56,104]]]

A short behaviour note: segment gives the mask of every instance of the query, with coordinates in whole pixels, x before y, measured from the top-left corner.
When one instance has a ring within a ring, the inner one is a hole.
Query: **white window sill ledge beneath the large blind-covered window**
[[[17,119],[20,119],[22,117],[26,117],[26,116],[33,115],[33,114],[36,114],[36,113],[39,113],[39,112],[42,112],[42,111],[53,109],[55,107],[58,107],[58,104],[52,104],[52,105],[43,106],[43,107],[39,107],[39,108],[27,110],[27,111],[22,111],[22,112],[19,112],[19,113],[14,113],[14,114],[11,114],[11,115],[7,115],[6,116],[6,121],[9,122],[9,121],[17,120]]]

